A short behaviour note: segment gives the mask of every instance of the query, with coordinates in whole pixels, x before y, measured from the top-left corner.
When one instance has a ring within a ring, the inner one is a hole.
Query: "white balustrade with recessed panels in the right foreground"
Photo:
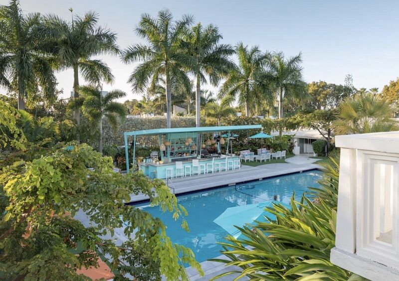
[[[331,262],[369,280],[399,280],[399,132],[337,136],[338,215]]]

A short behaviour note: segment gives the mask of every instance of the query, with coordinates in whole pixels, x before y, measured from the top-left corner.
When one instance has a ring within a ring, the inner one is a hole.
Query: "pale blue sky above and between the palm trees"
[[[0,0],[0,4],[8,1]],[[162,8],[176,19],[192,14],[196,22],[212,23],[223,35],[222,43],[258,45],[262,51],[302,53],[306,82],[324,80],[343,84],[353,76],[356,88],[382,87],[399,76],[399,1],[396,0],[20,0],[24,12],[54,13],[69,19],[95,10],[99,24],[118,34],[124,49],[145,43],[135,34],[142,13],[154,17]],[[100,56],[112,69],[113,85],[126,99],[140,99],[127,83],[135,65],[117,56]],[[73,72],[57,73],[62,98],[69,97]],[[80,79],[81,84],[83,80]],[[205,86],[206,88],[206,86]]]

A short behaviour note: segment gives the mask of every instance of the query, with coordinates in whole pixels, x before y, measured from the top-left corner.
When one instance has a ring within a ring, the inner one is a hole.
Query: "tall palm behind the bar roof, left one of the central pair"
[[[193,17],[187,15],[181,20],[173,21],[172,13],[168,9],[159,11],[157,18],[143,14],[136,32],[149,45],[132,45],[122,53],[124,63],[143,61],[128,80],[133,85],[133,90],[144,92],[149,83],[150,88],[153,88],[160,78],[165,79],[168,128],[171,127],[172,84],[176,81],[190,83],[183,71],[190,58],[182,52],[182,36],[192,22]]]

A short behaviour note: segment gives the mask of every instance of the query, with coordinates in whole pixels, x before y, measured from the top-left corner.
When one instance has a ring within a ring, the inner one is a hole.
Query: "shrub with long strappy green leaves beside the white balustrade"
[[[324,175],[320,187],[311,189],[311,199],[303,195],[296,202],[293,196],[291,209],[282,205],[266,208],[276,219],[266,218],[267,222],[253,227],[237,227],[244,238],[228,236],[227,243],[221,243],[226,259],[213,261],[238,266],[240,277],[251,280],[364,280],[330,262],[330,251],[335,246],[338,149],[330,152],[322,166]],[[214,279],[232,273],[237,271]]]

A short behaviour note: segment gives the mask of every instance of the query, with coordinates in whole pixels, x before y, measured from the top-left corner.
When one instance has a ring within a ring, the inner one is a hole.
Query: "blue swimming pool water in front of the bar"
[[[320,177],[321,172],[313,170],[178,196],[179,203],[189,213],[186,219],[190,232],[184,231],[179,221],[173,220],[170,213],[162,213],[159,207],[148,203],[137,206],[160,218],[168,227],[172,242],[190,247],[197,261],[203,262],[221,255],[222,247],[216,242],[223,241],[227,232],[213,220],[226,208],[273,200],[274,195],[288,204],[294,191],[299,200],[309,186],[318,186]]]

